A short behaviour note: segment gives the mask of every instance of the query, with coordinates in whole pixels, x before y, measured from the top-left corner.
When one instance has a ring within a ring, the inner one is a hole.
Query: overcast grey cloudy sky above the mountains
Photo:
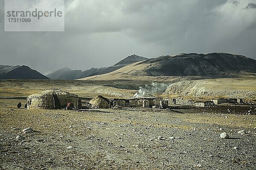
[[[4,31],[0,65],[106,67],[137,54],[227,52],[256,59],[256,0],[65,0],[65,31]]]

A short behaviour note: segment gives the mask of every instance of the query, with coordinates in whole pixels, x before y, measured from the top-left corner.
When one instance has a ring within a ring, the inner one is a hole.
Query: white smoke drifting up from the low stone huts
[[[138,93],[134,94],[134,98],[151,97],[152,94],[163,93],[166,90],[166,88],[168,88],[168,86],[169,84],[166,83],[152,82],[150,85],[140,87]]]

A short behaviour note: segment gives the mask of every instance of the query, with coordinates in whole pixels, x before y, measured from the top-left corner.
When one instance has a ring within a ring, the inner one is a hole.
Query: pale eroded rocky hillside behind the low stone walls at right
[[[169,85],[165,95],[183,95],[203,98],[256,99],[256,79],[223,78],[185,80]]]

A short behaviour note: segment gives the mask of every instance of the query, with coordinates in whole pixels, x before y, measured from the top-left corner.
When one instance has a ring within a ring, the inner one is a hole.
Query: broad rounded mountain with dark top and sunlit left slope
[[[116,79],[120,74],[130,76],[200,76],[237,77],[240,72],[256,73],[256,60],[237,54],[178,54],[160,56],[136,62],[97,77],[85,79]]]

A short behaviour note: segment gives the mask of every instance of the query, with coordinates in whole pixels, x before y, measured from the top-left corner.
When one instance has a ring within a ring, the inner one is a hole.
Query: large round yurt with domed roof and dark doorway
[[[66,108],[67,103],[73,103],[77,109],[81,109],[81,99],[78,95],[51,88],[27,98],[27,109],[61,109]]]

